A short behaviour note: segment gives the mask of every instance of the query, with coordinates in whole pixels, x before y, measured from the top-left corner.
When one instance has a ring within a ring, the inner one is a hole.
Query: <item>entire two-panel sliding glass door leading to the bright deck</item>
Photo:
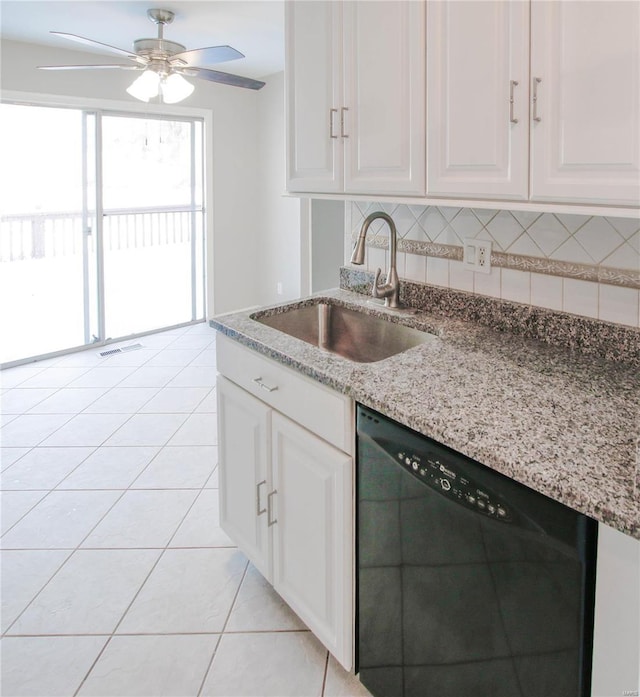
[[[199,120],[0,117],[0,363],[204,317]]]

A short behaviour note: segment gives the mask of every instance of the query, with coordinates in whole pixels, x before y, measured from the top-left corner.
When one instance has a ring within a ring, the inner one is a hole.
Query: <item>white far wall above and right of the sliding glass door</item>
[[[133,80],[128,71],[38,70],[47,64],[101,62],[94,54],[55,47],[2,41],[0,86],[5,91],[60,95],[70,99],[104,102],[104,108],[128,108],[128,105],[157,113],[155,105],[146,107],[126,93]],[[266,88],[264,88],[266,89]],[[258,190],[258,104],[253,90],[196,81],[194,93],[181,102],[184,110],[206,110],[212,115],[213,138],[207,144],[212,156],[212,181],[208,205],[213,214],[213,283],[209,291],[209,315],[246,307],[260,302],[258,255],[256,249],[258,211],[251,202]],[[215,298],[215,302],[213,302]]]

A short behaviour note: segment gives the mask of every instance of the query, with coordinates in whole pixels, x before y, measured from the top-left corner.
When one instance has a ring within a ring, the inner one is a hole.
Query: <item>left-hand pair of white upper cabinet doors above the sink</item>
[[[424,195],[425,6],[286,6],[287,186]]]

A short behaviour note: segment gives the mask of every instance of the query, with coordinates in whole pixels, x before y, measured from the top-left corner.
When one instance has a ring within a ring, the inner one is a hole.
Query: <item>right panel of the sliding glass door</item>
[[[193,121],[102,119],[108,337],[202,317],[201,141]]]

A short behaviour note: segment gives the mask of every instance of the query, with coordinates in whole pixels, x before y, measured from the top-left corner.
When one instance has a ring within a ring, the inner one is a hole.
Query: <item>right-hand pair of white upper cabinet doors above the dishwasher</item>
[[[427,7],[429,195],[640,203],[640,3]]]

